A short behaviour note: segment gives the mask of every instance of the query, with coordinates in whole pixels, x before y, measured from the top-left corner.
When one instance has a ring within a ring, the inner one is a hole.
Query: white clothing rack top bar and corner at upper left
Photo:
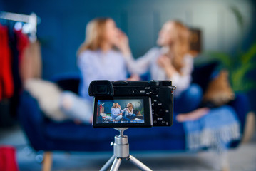
[[[11,21],[19,21],[23,23],[29,24],[29,39],[34,42],[36,41],[36,31],[37,31],[37,24],[40,23],[40,18],[36,16],[35,13],[31,13],[30,15],[26,14],[16,14],[11,12],[4,12],[0,11],[0,19],[6,19]]]

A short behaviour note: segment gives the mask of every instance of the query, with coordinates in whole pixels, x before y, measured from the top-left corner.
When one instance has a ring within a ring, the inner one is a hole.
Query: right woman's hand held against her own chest
[[[165,70],[165,73],[168,77],[172,77],[173,73],[177,73],[176,69],[174,68],[172,61],[168,56],[160,56],[158,58],[158,66]]]

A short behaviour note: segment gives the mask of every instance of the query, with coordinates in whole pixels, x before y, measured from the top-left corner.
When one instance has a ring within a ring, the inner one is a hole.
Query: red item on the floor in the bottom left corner
[[[0,170],[17,171],[16,155],[14,147],[0,147]]]

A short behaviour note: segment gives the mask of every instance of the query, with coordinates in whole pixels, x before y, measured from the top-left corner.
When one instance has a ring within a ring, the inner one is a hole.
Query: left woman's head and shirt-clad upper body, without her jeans
[[[118,48],[121,31],[113,19],[93,19],[86,26],[86,39],[78,49],[78,68],[82,80],[80,93],[88,98],[88,86],[93,80],[126,80],[126,63]]]

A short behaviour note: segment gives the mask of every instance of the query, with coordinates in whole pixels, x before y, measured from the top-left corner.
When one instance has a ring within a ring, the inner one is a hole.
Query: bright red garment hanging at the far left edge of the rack
[[[14,94],[8,29],[0,25],[0,100]]]

